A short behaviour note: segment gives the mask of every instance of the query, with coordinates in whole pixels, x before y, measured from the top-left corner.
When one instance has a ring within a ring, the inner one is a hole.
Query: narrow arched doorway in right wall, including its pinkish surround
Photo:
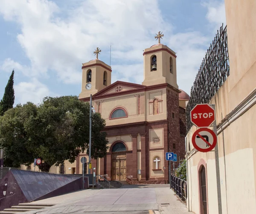
[[[204,159],[198,163],[199,214],[208,214],[207,165]]]

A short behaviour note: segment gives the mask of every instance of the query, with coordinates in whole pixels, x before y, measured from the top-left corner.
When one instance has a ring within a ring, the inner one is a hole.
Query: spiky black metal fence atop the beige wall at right
[[[191,87],[190,100],[186,106],[186,132],[192,127],[190,111],[196,104],[209,103],[221,85],[230,75],[227,26],[223,24],[206,52]]]

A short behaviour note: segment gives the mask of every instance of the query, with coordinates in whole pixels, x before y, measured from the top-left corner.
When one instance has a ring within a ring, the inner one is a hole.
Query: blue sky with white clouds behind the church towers
[[[190,88],[217,30],[224,0],[0,0],[0,99],[15,69],[15,104],[79,95],[81,64],[110,64],[111,83],[143,82],[143,50],[157,44],[177,55],[177,84]]]

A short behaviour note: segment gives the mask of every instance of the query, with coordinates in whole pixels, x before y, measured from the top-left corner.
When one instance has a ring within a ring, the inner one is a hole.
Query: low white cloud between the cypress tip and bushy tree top
[[[42,98],[52,95],[48,87],[36,78],[32,78],[30,82],[20,82],[14,86],[15,103],[24,104],[31,101],[35,104],[41,103]]]

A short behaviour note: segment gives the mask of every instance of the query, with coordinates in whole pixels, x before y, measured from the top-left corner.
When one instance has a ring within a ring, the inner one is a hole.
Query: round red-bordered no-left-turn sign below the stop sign
[[[215,147],[216,143],[216,134],[208,128],[198,129],[192,136],[192,144],[200,152],[209,152]]]

